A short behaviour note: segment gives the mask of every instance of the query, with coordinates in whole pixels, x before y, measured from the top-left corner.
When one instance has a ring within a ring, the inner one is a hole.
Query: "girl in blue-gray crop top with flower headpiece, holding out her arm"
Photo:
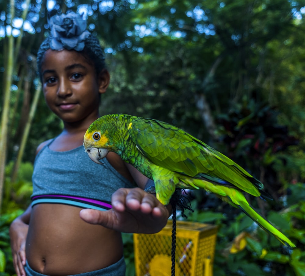
[[[84,152],[109,73],[81,16],[53,16],[49,25],[38,70],[45,101],[64,128],[38,146],[32,204],[10,227],[16,274],[125,275],[120,232],[158,232],[170,210],[143,190],[148,179],[119,156],[109,153],[101,166]]]

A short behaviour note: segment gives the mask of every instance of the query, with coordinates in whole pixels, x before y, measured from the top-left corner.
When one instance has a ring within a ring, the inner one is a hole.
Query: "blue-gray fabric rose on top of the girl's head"
[[[85,47],[85,39],[90,35],[86,30],[87,22],[81,15],[70,12],[68,14],[55,15],[48,20],[51,27],[50,48],[53,50],[82,51]]]

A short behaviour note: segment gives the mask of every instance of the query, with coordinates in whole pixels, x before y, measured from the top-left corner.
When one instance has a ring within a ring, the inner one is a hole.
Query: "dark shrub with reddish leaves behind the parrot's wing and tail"
[[[296,159],[302,154],[296,146],[299,141],[278,122],[278,114],[267,103],[244,100],[218,116],[222,152],[264,183],[275,199],[282,182],[302,180],[303,166],[302,159]]]

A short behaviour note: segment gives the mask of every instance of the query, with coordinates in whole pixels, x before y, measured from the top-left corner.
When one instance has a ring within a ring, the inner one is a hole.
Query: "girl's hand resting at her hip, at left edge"
[[[11,249],[13,255],[13,264],[17,276],[25,276],[24,266],[26,263],[25,242],[29,225],[25,224],[17,217],[9,228],[9,236],[11,238]]]

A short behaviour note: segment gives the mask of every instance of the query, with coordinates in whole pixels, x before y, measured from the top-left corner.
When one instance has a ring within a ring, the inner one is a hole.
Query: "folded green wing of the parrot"
[[[261,195],[259,189],[263,184],[231,159],[178,127],[136,118],[129,125],[128,133],[142,154],[157,166],[222,185],[234,185],[254,196]]]

